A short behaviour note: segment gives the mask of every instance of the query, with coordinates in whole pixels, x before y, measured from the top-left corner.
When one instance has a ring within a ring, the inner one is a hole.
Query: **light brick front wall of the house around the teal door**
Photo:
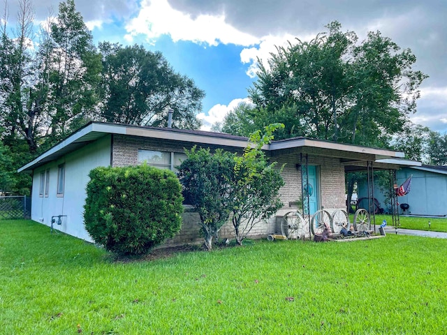
[[[188,142],[115,135],[113,139],[112,166],[137,165],[138,149],[184,152],[184,148],[191,149],[191,147],[193,147],[193,144]],[[212,149],[215,148],[212,147]],[[256,225],[251,230],[251,238],[266,237],[268,234],[280,232],[278,223],[281,216],[288,211],[296,210],[296,206],[289,207],[289,202],[296,202],[301,195],[301,172],[296,168],[296,164],[300,163],[300,154],[285,154],[272,158],[272,161],[278,162],[278,169],[285,164],[282,171],[285,185],[280,190],[284,207],[277,212],[277,218],[272,218],[267,223]],[[318,166],[321,207],[344,209],[346,207],[344,199],[344,166],[340,163],[339,158],[309,156],[309,165]],[[185,210],[182,218],[182,230],[173,239],[168,240],[166,244],[189,244],[203,241],[199,234],[200,225],[198,222],[200,218],[198,214],[188,208]],[[221,228],[219,237],[234,237],[233,225],[230,222]]]

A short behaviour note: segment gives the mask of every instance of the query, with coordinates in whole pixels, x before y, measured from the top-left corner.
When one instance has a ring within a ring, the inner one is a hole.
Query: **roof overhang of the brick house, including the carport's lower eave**
[[[175,128],[154,128],[91,122],[17,171],[34,170],[40,165],[54,161],[109,134],[152,137],[159,140],[190,142],[199,145],[204,144],[235,149],[243,149],[247,147],[248,141],[247,137],[223,133],[211,133],[207,131],[188,131]],[[404,153],[402,151],[362,147],[354,144],[344,144],[325,140],[314,140],[307,137],[295,137],[288,140],[273,141],[272,143],[265,145],[263,149],[265,151],[270,151],[272,156],[289,153],[305,153],[339,158],[345,165],[346,171],[365,170],[367,162],[374,162],[374,168],[381,169],[400,168],[403,165],[420,166],[420,162],[404,160]]]

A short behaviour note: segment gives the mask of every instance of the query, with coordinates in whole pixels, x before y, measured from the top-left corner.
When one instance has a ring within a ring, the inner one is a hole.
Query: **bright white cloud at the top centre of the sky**
[[[258,38],[243,33],[226,23],[225,15],[191,15],[173,9],[167,0],[143,0],[138,16],[126,24],[126,40],[131,41],[139,34],[147,36],[149,42],[169,35],[174,42],[189,40],[195,43],[218,45],[254,45]]]

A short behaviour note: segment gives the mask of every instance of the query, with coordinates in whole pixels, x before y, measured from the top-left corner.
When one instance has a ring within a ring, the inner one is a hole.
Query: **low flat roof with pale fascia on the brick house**
[[[34,170],[34,168],[37,168],[40,165],[75,151],[76,149],[83,147],[85,144],[98,140],[98,138],[108,134],[152,137],[159,138],[161,140],[192,142],[196,144],[208,144],[234,148],[246,147],[249,140],[248,137],[230,135],[226,133],[213,133],[210,131],[132,126],[94,121],[80,128],[78,131],[75,131],[73,134],[66,137],[65,140],[62,140],[51,149],[45,151],[27,165],[22,166],[22,168],[17,170],[17,172]],[[385,158],[404,158],[404,153],[402,151],[362,147],[360,145],[315,140],[307,137],[294,137],[287,140],[272,141],[272,143],[265,145],[263,149],[265,149],[265,151],[279,151],[302,147],[367,154],[374,156],[374,160]]]

